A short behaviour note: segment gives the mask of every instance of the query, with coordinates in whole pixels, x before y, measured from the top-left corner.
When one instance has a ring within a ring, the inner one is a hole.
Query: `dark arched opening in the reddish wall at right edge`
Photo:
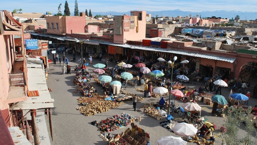
[[[248,82],[248,87],[254,88],[257,82],[257,62],[250,61],[245,63],[240,69],[238,81]]]

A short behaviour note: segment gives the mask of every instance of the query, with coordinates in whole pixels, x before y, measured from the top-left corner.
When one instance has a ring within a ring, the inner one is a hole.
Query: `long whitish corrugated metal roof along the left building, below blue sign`
[[[45,79],[45,72],[44,72],[44,68],[42,67],[42,64],[43,62],[41,64],[27,63],[27,76],[28,76],[27,88],[29,91],[37,90],[39,92],[39,96],[28,97],[28,100],[18,102],[17,104],[14,105],[14,108],[13,108],[14,110],[19,110],[19,109],[29,110],[29,109],[54,107],[53,105],[54,99],[51,98],[51,95],[49,93],[46,79]],[[46,102],[51,102],[51,103],[46,103]]]

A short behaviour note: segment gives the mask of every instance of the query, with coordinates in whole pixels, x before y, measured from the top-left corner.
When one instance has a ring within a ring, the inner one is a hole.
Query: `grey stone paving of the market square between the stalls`
[[[49,58],[52,58],[52,55],[48,55]],[[62,54],[60,55],[62,56]],[[72,55],[67,55],[67,58],[71,59]],[[78,59],[78,56],[77,56]],[[88,58],[85,57],[87,61]],[[77,63],[77,62],[76,62]],[[75,67],[75,62],[69,62],[70,65]],[[88,66],[89,72],[93,74],[93,69],[95,69],[92,65],[96,63],[104,63],[103,61],[99,61],[98,59],[93,59],[93,63]],[[141,122],[135,122],[139,127],[144,129],[146,132],[150,133],[150,143],[156,145],[157,140],[162,136],[177,136],[174,133],[170,132],[166,128],[163,128],[159,122],[163,120],[156,120],[145,113],[133,111],[132,101],[122,102],[118,108],[111,109],[107,112],[99,113],[93,116],[84,116],[80,114],[79,110],[76,108],[79,106],[77,102],[77,98],[81,97],[82,94],[80,92],[74,94],[73,92],[77,88],[73,82],[75,78],[75,72],[72,74],[61,73],[62,65],[56,64],[49,67],[48,71],[48,79],[47,85],[49,88],[53,90],[51,93],[52,98],[55,99],[54,108],[51,109],[52,112],[52,126],[53,126],[53,142],[52,145],[78,145],[78,144],[96,144],[96,145],[106,145],[102,138],[99,137],[100,132],[97,131],[97,127],[91,125],[91,122],[94,120],[101,121],[106,119],[107,117],[111,117],[115,114],[120,114],[123,112],[127,112],[132,116],[139,117],[141,116]],[[109,63],[109,67],[114,67],[115,63]],[[136,69],[136,68],[135,68]],[[72,68],[73,70],[73,68]],[[139,71],[139,69],[137,69]],[[115,80],[115,79],[113,79]],[[103,90],[100,86],[96,86],[94,80],[91,80],[91,84],[96,87],[98,94],[103,95]],[[204,82],[193,82],[190,81],[189,84],[186,83],[188,88],[199,88],[201,85],[204,85]],[[141,87],[143,88],[143,87]],[[138,96],[143,96],[141,92],[138,92],[131,85],[128,84],[127,92],[136,94]],[[225,98],[228,98],[229,88],[222,88],[222,95]],[[168,100],[168,96],[164,96],[165,100]],[[174,100],[174,97],[172,97]],[[140,109],[140,106],[144,105],[144,103],[149,102],[158,102],[160,98],[144,98],[142,102],[138,102],[136,104],[136,108]],[[180,100],[176,100],[176,105],[182,105],[183,102]],[[198,103],[202,107],[202,116],[208,119],[208,122],[214,122],[217,125],[217,129],[224,123],[225,118],[220,116],[214,117],[211,114],[212,106],[207,104],[203,104],[203,102]],[[251,98],[249,101],[249,106],[254,106],[256,104],[256,99]],[[177,114],[171,114],[174,118],[179,118]],[[49,122],[46,122],[49,130]],[[131,126],[128,126],[131,128]],[[121,128],[119,130],[115,130],[110,132],[111,134],[118,134],[124,131],[127,127]],[[243,130],[239,129],[240,134],[245,134]],[[218,134],[218,130],[214,133],[214,137],[216,138],[215,144],[220,145],[222,140],[218,138],[216,135]],[[49,133],[49,138],[51,138]],[[188,145],[196,144],[195,142],[188,142]]]

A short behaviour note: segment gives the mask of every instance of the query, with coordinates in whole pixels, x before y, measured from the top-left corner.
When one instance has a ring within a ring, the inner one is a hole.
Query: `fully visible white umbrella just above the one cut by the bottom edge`
[[[194,136],[197,133],[197,128],[193,124],[185,122],[176,123],[172,128],[173,132],[180,136]]]

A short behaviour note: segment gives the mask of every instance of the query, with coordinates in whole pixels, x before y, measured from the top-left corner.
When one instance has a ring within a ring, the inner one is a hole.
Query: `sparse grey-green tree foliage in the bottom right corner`
[[[249,107],[245,112],[242,107],[234,108],[233,110],[228,110],[226,113],[227,120],[225,123],[222,124],[227,128],[227,131],[218,135],[220,138],[224,139],[227,145],[253,145],[256,144],[256,141],[253,140],[252,133],[256,130],[251,122],[252,114],[250,114],[252,107]],[[248,115],[245,115],[248,114]],[[245,128],[244,131],[246,132],[244,135],[240,134],[242,137],[239,136],[239,127],[242,128],[242,122],[244,122]]]

